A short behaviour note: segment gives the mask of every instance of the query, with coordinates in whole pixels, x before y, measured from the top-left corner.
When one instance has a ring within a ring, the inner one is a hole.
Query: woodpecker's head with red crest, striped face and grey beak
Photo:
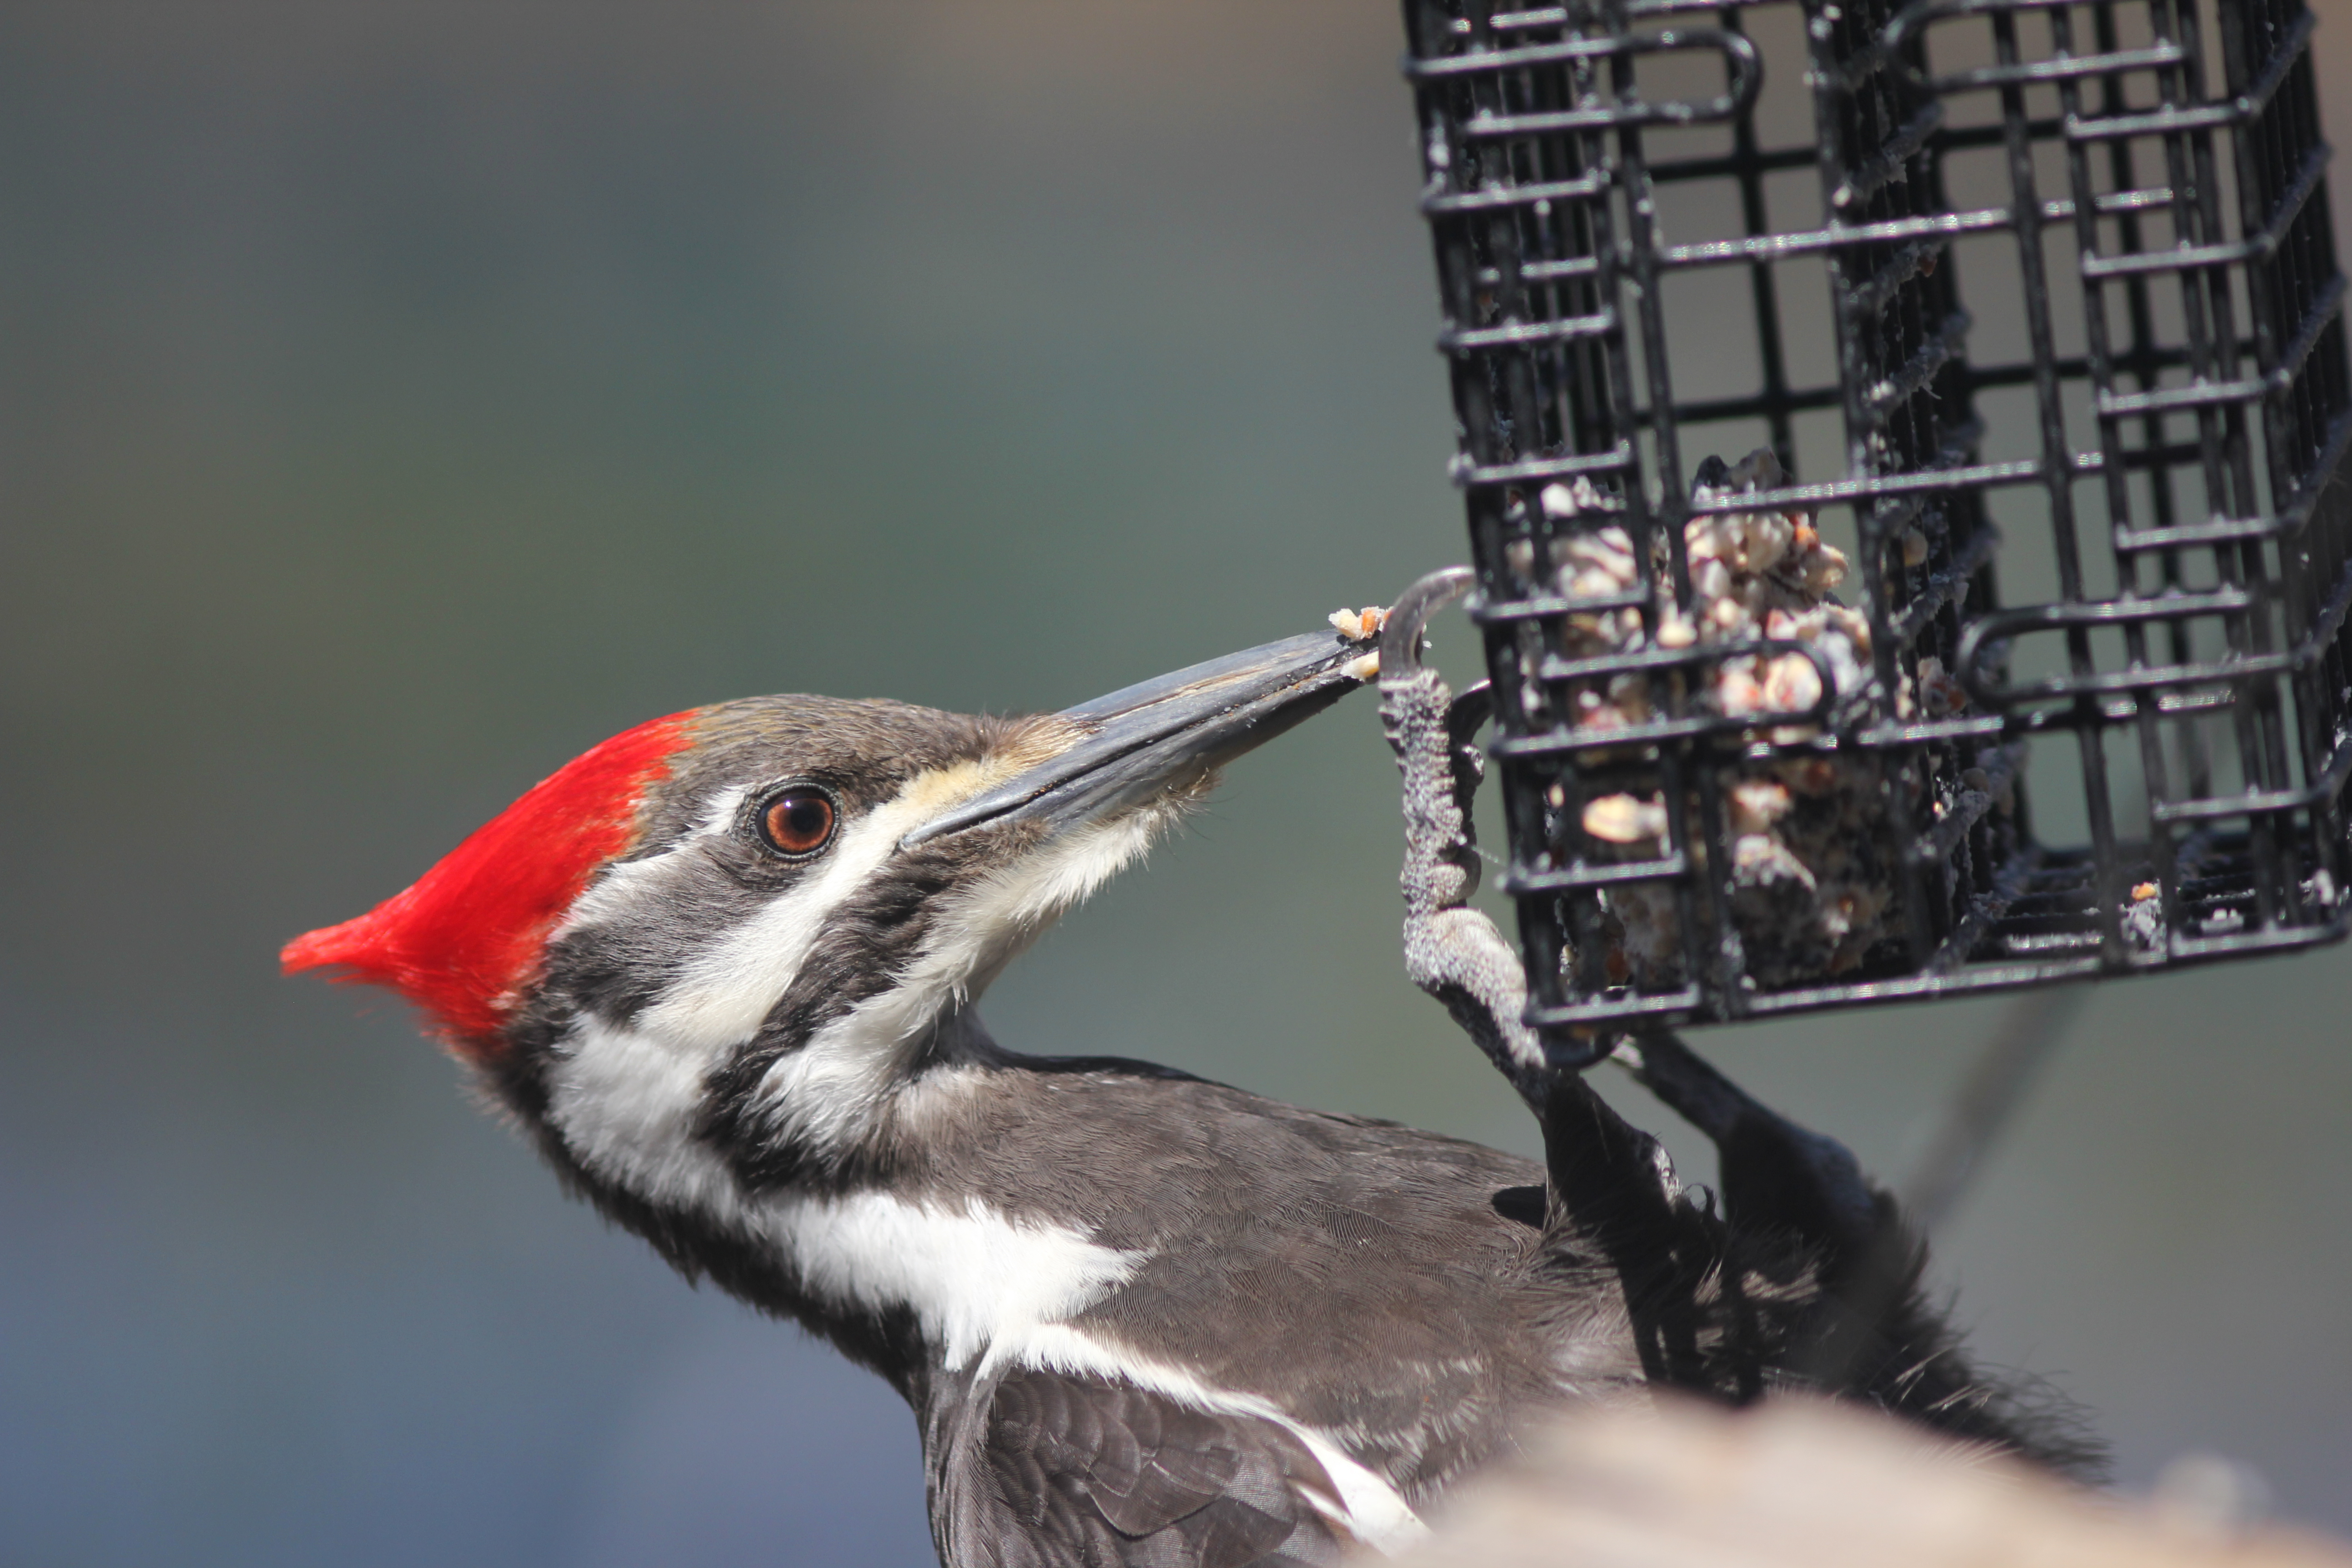
[[[993,1051],[971,1001],[1011,957],[1369,675],[1317,632],[1054,715],[670,715],[282,961],[405,994],[590,1190],[724,1208],[875,1157]]]

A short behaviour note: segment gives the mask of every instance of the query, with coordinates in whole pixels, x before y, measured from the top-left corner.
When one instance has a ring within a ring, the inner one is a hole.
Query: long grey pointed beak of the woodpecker
[[[1070,827],[1202,778],[1378,677],[1369,642],[1284,637],[1061,710],[1082,738],[931,818],[901,849],[981,823]]]

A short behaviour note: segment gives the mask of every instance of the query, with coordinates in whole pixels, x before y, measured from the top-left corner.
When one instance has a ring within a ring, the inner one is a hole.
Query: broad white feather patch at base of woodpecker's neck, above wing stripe
[[[1136,1267],[1134,1253],[1065,1225],[1014,1220],[978,1199],[779,1199],[764,1229],[811,1295],[868,1312],[910,1309],[957,1371],[990,1345],[1084,1312]]]

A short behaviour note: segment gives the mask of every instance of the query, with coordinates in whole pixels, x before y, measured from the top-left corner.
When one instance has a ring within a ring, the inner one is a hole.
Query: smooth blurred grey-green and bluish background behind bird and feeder
[[[1056,708],[1461,557],[1399,47],[1376,0],[0,12],[0,1563],[929,1561],[880,1382],[275,950],[656,712]],[[1531,1150],[1395,858],[1357,701],[990,1025]],[[2124,1486],[2211,1450],[2352,1530],[2347,992],[2100,990],[1940,1239]],[[1700,1044],[1898,1173],[2002,1006]]]

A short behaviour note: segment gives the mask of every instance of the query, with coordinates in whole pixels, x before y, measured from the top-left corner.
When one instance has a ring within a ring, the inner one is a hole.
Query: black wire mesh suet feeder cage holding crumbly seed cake
[[[2345,933],[2296,0],[1404,9],[1555,1051]]]

